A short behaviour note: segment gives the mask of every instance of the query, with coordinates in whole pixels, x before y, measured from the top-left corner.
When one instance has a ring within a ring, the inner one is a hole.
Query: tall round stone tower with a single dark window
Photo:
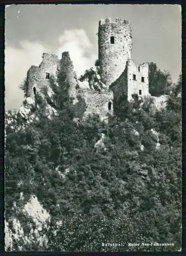
[[[125,70],[131,58],[132,36],[130,22],[123,18],[102,19],[98,30],[99,65],[102,81],[109,88]]]

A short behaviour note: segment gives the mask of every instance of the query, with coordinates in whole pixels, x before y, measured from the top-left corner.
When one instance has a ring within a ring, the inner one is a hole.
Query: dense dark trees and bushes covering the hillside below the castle
[[[158,78],[152,73],[149,79],[154,84]],[[14,216],[26,227],[17,209],[35,195],[51,216],[42,230],[47,247],[38,245],[36,250],[180,249],[181,77],[171,87],[165,109],[154,111],[149,98],[121,99],[107,123],[94,114],[74,121],[72,100],[65,93],[68,84],[60,71],[58,86],[51,78],[51,88],[54,94],[45,95],[57,110],[51,119],[44,114],[42,100],[34,112],[38,118],[31,123],[11,112],[6,117],[8,223]],[[152,92],[156,89],[151,87]],[[154,95],[161,92],[157,89]],[[16,130],[20,123],[27,125]],[[102,134],[104,145],[95,147]],[[23,201],[19,201],[21,192]],[[147,241],[174,246],[128,246]],[[22,243],[23,250],[32,248]],[[104,247],[102,243],[123,246]]]

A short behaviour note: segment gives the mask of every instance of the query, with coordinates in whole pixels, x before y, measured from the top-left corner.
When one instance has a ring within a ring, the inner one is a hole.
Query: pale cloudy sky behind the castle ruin
[[[102,18],[130,20],[136,65],[155,62],[174,82],[181,72],[181,7],[178,5],[10,5],[5,19],[5,103],[18,109],[18,88],[43,52],[69,51],[78,74],[98,58]]]

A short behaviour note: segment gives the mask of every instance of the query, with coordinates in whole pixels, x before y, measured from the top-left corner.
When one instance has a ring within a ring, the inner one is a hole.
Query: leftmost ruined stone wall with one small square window
[[[56,76],[59,60],[57,55],[43,53],[42,62],[39,67],[31,66],[27,72],[27,97],[34,97],[33,88],[40,90],[43,86],[49,85],[47,73]]]

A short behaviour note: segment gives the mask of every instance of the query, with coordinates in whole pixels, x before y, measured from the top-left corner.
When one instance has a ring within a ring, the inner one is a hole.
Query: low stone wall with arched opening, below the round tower
[[[113,112],[113,92],[111,91],[94,91],[91,89],[79,89],[80,95],[86,103],[86,111],[84,116],[88,114],[98,114],[101,119],[106,118],[106,114]],[[108,110],[108,104],[111,103],[111,110]]]

